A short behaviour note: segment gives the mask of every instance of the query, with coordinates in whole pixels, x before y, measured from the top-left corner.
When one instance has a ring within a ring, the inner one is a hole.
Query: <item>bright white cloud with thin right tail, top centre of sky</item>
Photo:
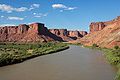
[[[62,10],[60,10],[60,12],[63,12],[64,10],[74,10],[77,7],[68,7],[68,6],[63,5],[63,4],[53,4],[52,8],[54,8],[54,9],[62,9]]]

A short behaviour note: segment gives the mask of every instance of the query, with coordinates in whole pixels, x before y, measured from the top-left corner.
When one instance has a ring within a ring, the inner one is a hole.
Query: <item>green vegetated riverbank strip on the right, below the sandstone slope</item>
[[[108,62],[111,65],[115,66],[118,70],[114,80],[120,80],[120,47],[115,46],[113,49],[108,49],[108,48],[98,47],[95,44],[93,46],[85,46],[85,47],[103,51]]]

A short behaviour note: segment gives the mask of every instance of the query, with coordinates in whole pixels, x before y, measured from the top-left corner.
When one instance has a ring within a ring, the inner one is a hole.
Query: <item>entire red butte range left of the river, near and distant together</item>
[[[82,38],[86,31],[67,31],[67,29],[47,29],[42,23],[0,27],[0,42],[48,42],[70,41]]]

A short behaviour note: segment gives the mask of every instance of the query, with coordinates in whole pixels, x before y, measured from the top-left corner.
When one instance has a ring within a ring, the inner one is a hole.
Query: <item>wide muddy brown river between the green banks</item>
[[[101,53],[70,46],[61,52],[0,67],[0,80],[113,80],[116,71]]]

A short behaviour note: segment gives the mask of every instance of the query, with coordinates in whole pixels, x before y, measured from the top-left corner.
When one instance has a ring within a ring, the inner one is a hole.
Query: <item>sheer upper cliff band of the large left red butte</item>
[[[43,30],[40,30],[43,29]],[[0,35],[2,34],[24,34],[27,32],[33,33],[43,33],[45,30],[44,24],[41,23],[33,23],[30,25],[20,24],[19,26],[4,26],[0,27]]]

